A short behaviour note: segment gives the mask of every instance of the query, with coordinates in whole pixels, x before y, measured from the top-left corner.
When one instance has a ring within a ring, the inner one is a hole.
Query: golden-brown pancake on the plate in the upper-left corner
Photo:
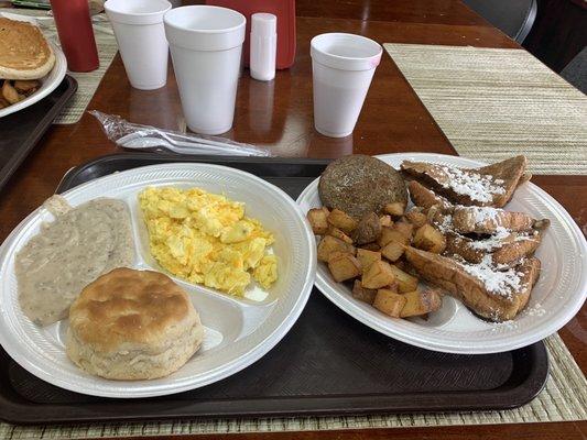
[[[39,79],[55,65],[55,55],[39,28],[0,18],[0,78]]]

